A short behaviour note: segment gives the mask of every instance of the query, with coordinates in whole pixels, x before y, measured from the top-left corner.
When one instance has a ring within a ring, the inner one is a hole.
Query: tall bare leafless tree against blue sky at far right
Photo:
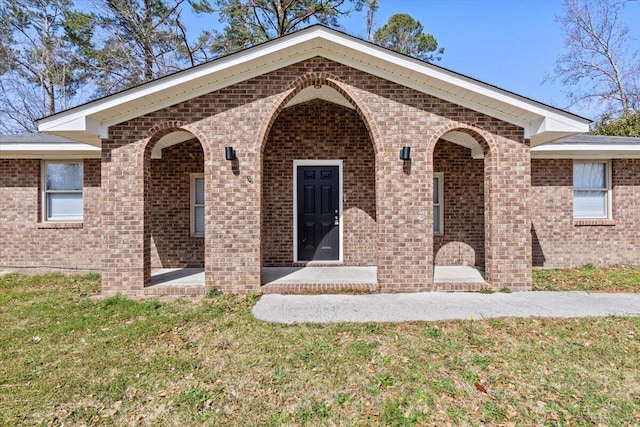
[[[562,82],[572,105],[595,104],[616,115],[638,107],[640,61],[621,21],[623,8],[610,0],[564,0],[557,20],[566,52],[556,60],[551,80]]]

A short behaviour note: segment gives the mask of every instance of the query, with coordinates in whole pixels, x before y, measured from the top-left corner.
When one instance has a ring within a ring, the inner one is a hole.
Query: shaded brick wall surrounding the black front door
[[[293,161],[343,160],[345,265],[376,265],[375,154],[355,110],[326,101],[284,109],[264,147],[262,253],[265,266],[293,263]]]

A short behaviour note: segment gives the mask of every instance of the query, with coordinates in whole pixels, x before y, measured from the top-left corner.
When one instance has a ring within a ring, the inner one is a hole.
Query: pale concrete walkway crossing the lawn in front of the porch
[[[490,317],[640,316],[640,294],[514,292],[375,295],[263,295],[253,308],[267,322],[403,322]]]

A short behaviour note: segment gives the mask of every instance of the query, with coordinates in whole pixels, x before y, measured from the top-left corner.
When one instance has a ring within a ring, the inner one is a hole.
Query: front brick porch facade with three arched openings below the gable
[[[432,148],[463,129],[485,152],[487,276],[494,287],[531,284],[530,156],[522,128],[324,59],[312,58],[112,126],[103,142],[103,290],[139,292],[148,280],[144,224],[145,147],[163,129],[192,132],[203,144],[207,206],[207,286],[260,290],[263,146],[284,103],[326,84],[356,107],[375,152],[378,281],[387,291],[432,289]],[[237,162],[224,159],[236,149]],[[412,160],[398,159],[412,147]],[[124,201],[124,202],[123,202]],[[116,203],[118,202],[118,203]]]

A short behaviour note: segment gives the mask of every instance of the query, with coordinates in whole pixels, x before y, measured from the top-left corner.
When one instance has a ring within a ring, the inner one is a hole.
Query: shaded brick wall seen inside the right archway
[[[433,170],[443,176],[444,234],[433,237],[436,265],[484,268],[484,161],[471,150],[440,140]]]

